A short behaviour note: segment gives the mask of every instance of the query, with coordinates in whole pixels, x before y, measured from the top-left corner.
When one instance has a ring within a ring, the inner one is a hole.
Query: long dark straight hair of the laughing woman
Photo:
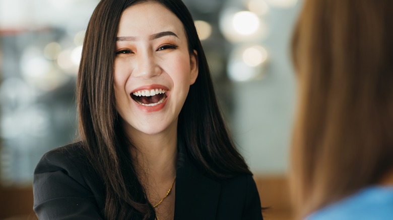
[[[183,23],[190,53],[198,52],[199,75],[179,114],[178,135],[195,164],[214,178],[251,174],[236,150],[221,116],[210,70],[192,17],[180,0],[102,0],[90,19],[77,82],[79,133],[89,162],[106,190],[107,219],[154,219],[131,161],[128,140],[115,109],[115,43],[122,12],[130,6],[158,2]]]

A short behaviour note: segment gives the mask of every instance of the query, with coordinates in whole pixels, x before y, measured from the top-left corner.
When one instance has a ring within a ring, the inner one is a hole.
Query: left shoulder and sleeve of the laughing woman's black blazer
[[[76,142],[42,156],[33,179],[39,219],[102,219],[105,189],[84,152]]]

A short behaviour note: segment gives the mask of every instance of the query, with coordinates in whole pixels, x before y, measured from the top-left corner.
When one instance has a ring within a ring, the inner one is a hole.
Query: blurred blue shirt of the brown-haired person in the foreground
[[[306,220],[328,219],[393,220],[393,187],[367,187],[306,217]]]

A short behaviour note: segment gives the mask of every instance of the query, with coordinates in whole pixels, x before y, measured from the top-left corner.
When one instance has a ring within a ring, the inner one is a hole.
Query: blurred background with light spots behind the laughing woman
[[[0,219],[35,219],[32,178],[77,137],[75,82],[98,0],[0,0]],[[289,45],[301,0],[183,0],[216,93],[257,183],[266,219],[291,219],[288,148],[295,103]]]

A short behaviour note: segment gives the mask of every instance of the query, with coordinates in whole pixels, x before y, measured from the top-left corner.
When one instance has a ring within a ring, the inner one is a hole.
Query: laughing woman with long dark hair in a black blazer
[[[40,219],[261,219],[180,0],[102,0],[77,82],[80,141],[43,156]]]

